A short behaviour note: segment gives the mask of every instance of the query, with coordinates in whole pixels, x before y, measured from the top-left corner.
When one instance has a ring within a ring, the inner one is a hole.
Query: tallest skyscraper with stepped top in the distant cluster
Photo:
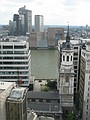
[[[19,8],[20,26],[22,34],[32,32],[32,11],[27,10],[26,7]]]

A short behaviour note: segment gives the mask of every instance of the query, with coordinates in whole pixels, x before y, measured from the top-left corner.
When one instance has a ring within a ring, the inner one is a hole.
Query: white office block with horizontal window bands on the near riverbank
[[[0,81],[29,86],[31,81],[31,54],[26,37],[0,40]]]

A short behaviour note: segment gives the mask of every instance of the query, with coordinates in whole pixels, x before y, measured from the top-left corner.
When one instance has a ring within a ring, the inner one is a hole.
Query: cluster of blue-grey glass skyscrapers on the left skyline
[[[26,35],[32,32],[32,11],[21,7],[18,14],[13,15],[13,21],[9,21],[9,35]]]

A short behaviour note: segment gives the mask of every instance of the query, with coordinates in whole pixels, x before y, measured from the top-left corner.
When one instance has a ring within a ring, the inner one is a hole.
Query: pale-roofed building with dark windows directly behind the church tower
[[[62,61],[62,54],[61,54],[61,46],[64,44],[65,40],[58,42],[58,67],[60,69],[61,61]],[[74,67],[74,103],[78,107],[79,104],[79,78],[80,78],[80,55],[81,55],[81,48],[83,43],[81,40],[70,40],[73,45],[73,67]]]

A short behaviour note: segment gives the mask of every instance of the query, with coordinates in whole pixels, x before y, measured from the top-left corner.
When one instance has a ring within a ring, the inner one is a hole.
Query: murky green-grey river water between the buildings
[[[31,74],[35,79],[57,79],[58,51],[31,50]]]

